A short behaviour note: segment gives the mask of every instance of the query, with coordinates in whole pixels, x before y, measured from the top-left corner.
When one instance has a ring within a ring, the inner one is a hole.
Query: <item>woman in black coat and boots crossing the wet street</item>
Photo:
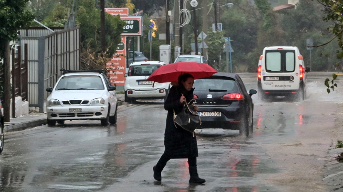
[[[161,172],[170,159],[188,159],[190,183],[204,183],[205,179],[199,178],[197,171],[198,145],[197,138],[181,127],[174,125],[174,111],[179,113],[184,102],[193,99],[194,78],[185,73],[178,77],[178,85],[170,88],[168,97],[164,103],[164,109],[168,111],[166,129],[164,133],[165,150],[157,164],[153,167],[154,178],[161,181]],[[195,106],[198,110],[198,106]]]

